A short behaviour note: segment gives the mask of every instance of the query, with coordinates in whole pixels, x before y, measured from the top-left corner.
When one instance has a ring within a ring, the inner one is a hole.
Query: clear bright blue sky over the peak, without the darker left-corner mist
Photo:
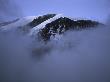
[[[25,16],[62,13],[70,17],[104,21],[109,11],[107,0],[15,0],[15,2]]]

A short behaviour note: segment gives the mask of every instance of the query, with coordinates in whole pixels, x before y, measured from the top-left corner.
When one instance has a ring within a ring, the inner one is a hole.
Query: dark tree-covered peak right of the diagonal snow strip
[[[48,23],[43,29],[39,31],[40,37],[47,41],[51,36],[62,34],[67,30],[81,30],[86,28],[93,28],[99,25],[96,21],[91,20],[72,20],[67,17],[61,17],[51,23]]]

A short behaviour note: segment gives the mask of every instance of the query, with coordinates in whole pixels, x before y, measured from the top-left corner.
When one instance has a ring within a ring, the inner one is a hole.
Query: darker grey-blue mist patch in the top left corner
[[[22,16],[22,9],[14,0],[0,0],[0,22],[8,22]]]

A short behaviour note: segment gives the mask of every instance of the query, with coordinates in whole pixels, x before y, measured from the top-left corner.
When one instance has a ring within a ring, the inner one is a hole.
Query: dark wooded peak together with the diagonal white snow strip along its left
[[[53,14],[49,14],[49,15],[53,15]],[[61,14],[55,15],[54,17],[47,19],[41,24],[38,24],[36,21],[39,20],[34,20],[34,25],[36,26],[35,27],[31,26],[32,29],[30,30],[29,35],[34,35],[34,36],[38,35],[44,41],[50,40],[51,37],[55,38],[56,35],[61,35],[68,30],[78,31],[78,30],[94,28],[98,25],[102,25],[97,21],[82,20],[82,19],[74,20],[68,17],[64,17]]]

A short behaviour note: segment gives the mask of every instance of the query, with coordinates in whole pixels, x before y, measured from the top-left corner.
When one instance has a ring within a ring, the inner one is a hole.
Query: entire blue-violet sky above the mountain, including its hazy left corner
[[[60,13],[105,21],[110,10],[110,0],[0,0],[1,19]]]

